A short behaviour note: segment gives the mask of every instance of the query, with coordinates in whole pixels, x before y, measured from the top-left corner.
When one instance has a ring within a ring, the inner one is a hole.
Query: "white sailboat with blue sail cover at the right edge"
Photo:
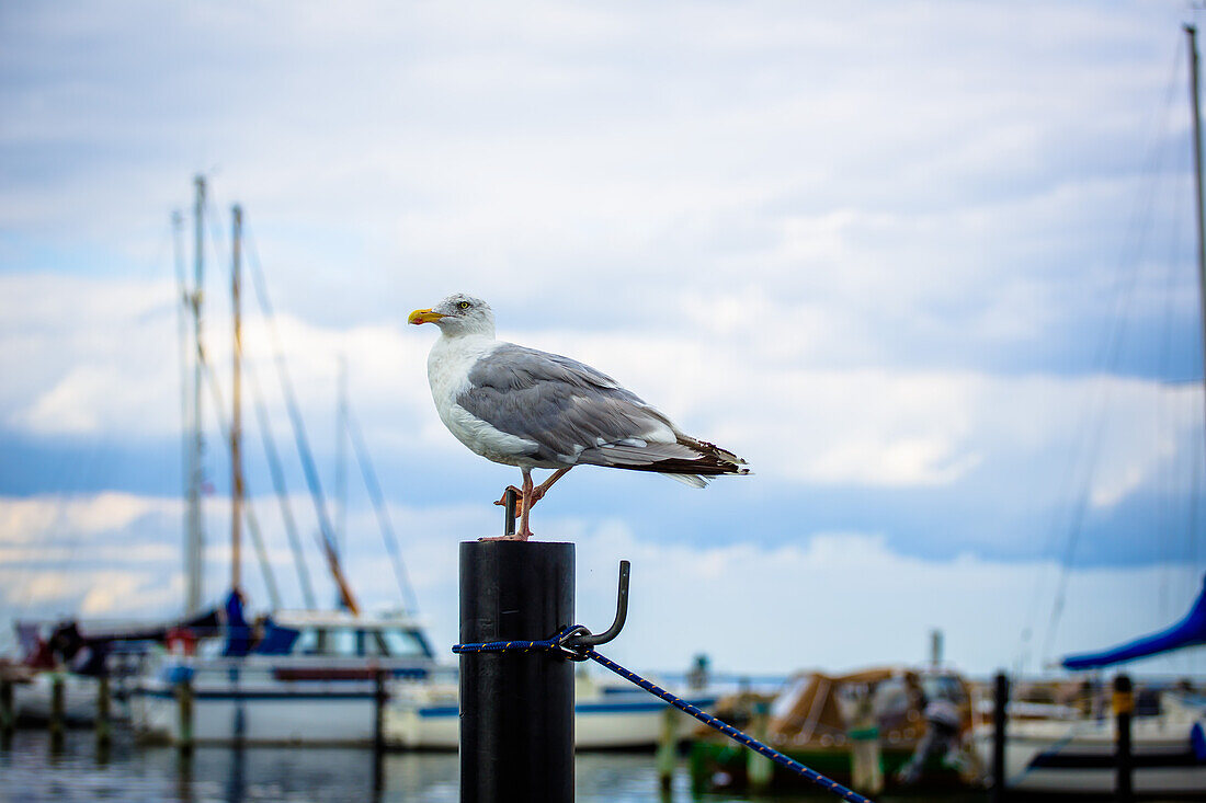
[[[1198,262],[1206,345],[1206,218],[1202,207],[1196,30],[1187,25],[1185,34],[1190,54]],[[1060,664],[1070,672],[1100,670],[1202,645],[1206,645],[1206,579],[1188,612],[1171,626],[1103,650],[1066,656]],[[1189,688],[1169,688],[1160,692],[1158,705],[1158,714],[1136,716],[1131,721],[1134,792],[1206,798],[1206,698]],[[1117,727],[1117,719],[1107,714],[1106,707],[1099,708],[1097,716],[1059,720],[1023,719],[1011,711],[1005,745],[1007,789],[1040,795],[1112,796],[1118,774]],[[990,761],[991,725],[977,731],[976,743],[984,760]]]

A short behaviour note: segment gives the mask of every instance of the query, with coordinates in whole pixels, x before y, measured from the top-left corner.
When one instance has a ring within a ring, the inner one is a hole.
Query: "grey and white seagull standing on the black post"
[[[508,488],[520,497],[520,531],[482,540],[531,538],[532,506],[575,465],[656,471],[696,488],[707,477],[749,474],[745,461],[684,434],[590,365],[496,340],[494,312],[479,298],[456,293],[406,322],[440,328],[427,381],[444,426],[472,451],[523,475],[522,490]],[[554,473],[533,485],[537,468]]]

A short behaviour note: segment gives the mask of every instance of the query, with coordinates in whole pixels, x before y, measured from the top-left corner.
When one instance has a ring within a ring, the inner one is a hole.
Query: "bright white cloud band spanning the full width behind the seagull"
[[[177,356],[169,345],[175,322],[163,301],[153,301],[162,288],[148,295],[141,286],[118,283],[99,293],[104,310],[98,311],[89,299],[101,285],[98,280],[60,276],[53,283],[81,315],[48,313],[39,327],[41,345],[30,357],[39,370],[17,371],[6,403],[10,423],[31,434],[127,439],[178,432]],[[45,289],[45,282],[27,276],[0,277],[5,286],[12,292],[0,294],[7,299],[0,305],[18,315]],[[1077,442],[1083,422],[1108,415],[1090,491],[1095,504],[1108,506],[1177,459],[1196,426],[1187,415],[1200,398],[1193,386],[1110,376],[829,367],[822,354],[832,342],[825,335],[831,310],[796,306],[755,288],[733,298],[696,291],[681,304],[691,324],[674,330],[516,332],[504,317],[502,336],[599,367],[687,430],[740,452],[761,476],[777,482],[949,486],[973,471],[1003,474],[1044,462],[1035,473],[1043,477],[1036,485],[1046,488],[1067,469],[1067,456],[1084,449]],[[215,318],[210,322],[207,352],[229,404],[229,334]],[[459,455],[427,389],[426,351],[434,332],[403,330],[400,324],[340,329],[291,316],[281,316],[279,327],[312,442],[333,440],[343,354],[355,406],[375,450]],[[113,336],[110,329],[137,333],[145,345],[131,353],[130,338]],[[22,332],[0,332],[0,353],[18,351]],[[809,332],[818,333],[816,342],[808,342]],[[156,345],[146,345],[151,342]],[[275,435],[287,442],[292,432],[271,340],[258,315],[248,315],[244,342]],[[250,385],[245,393],[245,427],[254,439],[258,422]],[[207,387],[203,400],[212,421]],[[222,416],[228,420],[229,411],[222,410]],[[215,459],[224,463],[221,453]],[[1034,493],[1026,483],[1035,480],[1028,474],[1000,481]],[[258,482],[267,488],[267,479]]]

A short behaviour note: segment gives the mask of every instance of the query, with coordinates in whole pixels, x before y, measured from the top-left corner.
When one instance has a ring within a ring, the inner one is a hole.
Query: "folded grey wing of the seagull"
[[[661,412],[575,359],[503,344],[469,370],[457,404],[496,429],[531,440],[554,465],[716,473]],[[675,470],[678,469],[678,470]]]

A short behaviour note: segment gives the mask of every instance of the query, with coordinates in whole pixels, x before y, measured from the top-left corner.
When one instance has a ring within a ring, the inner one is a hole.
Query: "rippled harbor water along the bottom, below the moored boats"
[[[11,743],[0,745],[0,801],[456,803],[458,799],[455,754],[386,754],[377,767],[373,751],[361,749],[198,748],[192,760],[185,761],[172,748],[134,744],[121,732],[115,737],[107,752],[99,752],[92,732],[69,731],[62,749],[53,750],[45,731],[18,731]],[[673,787],[662,792],[649,754],[579,754],[575,779],[578,803],[837,799],[821,793],[773,798],[693,795],[685,764]],[[879,798],[879,803],[892,799]],[[987,799],[984,795],[942,798],[946,803]]]

